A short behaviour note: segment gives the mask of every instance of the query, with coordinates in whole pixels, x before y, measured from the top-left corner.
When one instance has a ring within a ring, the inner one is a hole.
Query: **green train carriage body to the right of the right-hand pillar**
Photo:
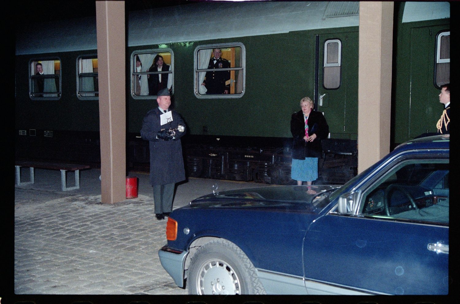
[[[443,105],[437,102],[440,88],[435,80],[436,46],[438,33],[449,31],[450,6],[445,2],[437,6],[435,3],[420,4],[398,4],[403,22],[396,25],[394,145],[423,133],[436,132],[436,123],[443,111]],[[439,19],[426,20],[423,16]],[[448,82],[449,79],[444,81]]]

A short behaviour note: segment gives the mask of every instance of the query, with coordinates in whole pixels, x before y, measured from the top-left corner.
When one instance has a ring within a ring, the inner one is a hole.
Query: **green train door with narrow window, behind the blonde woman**
[[[357,139],[358,32],[316,35],[315,107],[331,138]]]

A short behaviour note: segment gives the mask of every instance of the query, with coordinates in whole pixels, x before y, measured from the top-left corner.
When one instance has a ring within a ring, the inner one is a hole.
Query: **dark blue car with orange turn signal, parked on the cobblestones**
[[[449,135],[343,186],[213,193],[174,210],[161,265],[190,294],[447,294]]]

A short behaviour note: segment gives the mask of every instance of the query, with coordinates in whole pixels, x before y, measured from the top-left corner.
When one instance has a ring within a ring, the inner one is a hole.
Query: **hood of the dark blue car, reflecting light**
[[[339,185],[272,186],[210,193],[194,199],[189,208],[301,210],[319,213]]]

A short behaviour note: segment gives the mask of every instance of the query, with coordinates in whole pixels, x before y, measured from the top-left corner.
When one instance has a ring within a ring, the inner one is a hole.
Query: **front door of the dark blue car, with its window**
[[[313,222],[303,255],[308,293],[447,294],[449,198],[424,181],[445,179],[448,166],[447,153],[394,160],[357,188],[357,214],[331,210]]]

